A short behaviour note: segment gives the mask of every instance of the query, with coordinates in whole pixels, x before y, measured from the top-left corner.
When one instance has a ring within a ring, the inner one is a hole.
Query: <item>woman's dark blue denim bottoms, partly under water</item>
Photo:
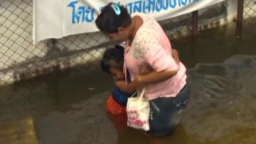
[[[150,100],[150,130],[147,132],[155,136],[173,134],[188,104],[189,95],[190,86],[187,83],[176,97],[158,97]]]

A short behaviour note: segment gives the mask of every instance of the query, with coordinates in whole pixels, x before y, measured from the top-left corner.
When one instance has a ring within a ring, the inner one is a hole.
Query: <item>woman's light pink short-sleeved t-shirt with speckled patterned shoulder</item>
[[[172,58],[170,40],[161,26],[152,17],[144,13],[140,16],[143,24],[138,29],[131,47],[125,45],[124,67],[127,67],[133,80],[139,73],[140,65],[147,63],[154,70],[177,70],[175,76],[160,83],[148,84],[145,95],[149,100],[157,97],[175,97],[186,84],[186,68]]]

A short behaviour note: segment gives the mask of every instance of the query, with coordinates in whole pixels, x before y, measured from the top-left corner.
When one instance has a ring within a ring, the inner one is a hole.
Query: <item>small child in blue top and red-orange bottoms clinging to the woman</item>
[[[124,75],[124,47],[115,45],[115,48],[108,49],[103,54],[101,61],[101,68],[104,72],[111,74],[113,80],[116,82],[125,81]],[[145,65],[141,67],[141,75],[152,72],[152,68]],[[128,72],[127,72],[128,73]],[[127,74],[127,83],[130,83],[129,74]],[[132,93],[121,92],[119,88],[115,87],[112,95],[110,95],[106,102],[106,108],[109,113],[114,115],[126,113],[125,108],[127,99]]]

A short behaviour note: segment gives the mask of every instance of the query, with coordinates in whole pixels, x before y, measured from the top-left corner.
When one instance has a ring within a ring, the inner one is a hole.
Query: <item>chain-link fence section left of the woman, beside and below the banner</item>
[[[99,60],[103,49],[93,46],[107,41],[101,33],[33,45],[32,10],[33,0],[0,1],[0,86]]]

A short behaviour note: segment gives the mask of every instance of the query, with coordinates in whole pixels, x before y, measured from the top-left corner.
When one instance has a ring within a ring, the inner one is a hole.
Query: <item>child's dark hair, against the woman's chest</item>
[[[124,47],[121,45],[115,45],[114,48],[110,48],[104,52],[101,60],[101,68],[103,72],[109,72],[110,68],[117,68],[123,70],[124,67]]]

